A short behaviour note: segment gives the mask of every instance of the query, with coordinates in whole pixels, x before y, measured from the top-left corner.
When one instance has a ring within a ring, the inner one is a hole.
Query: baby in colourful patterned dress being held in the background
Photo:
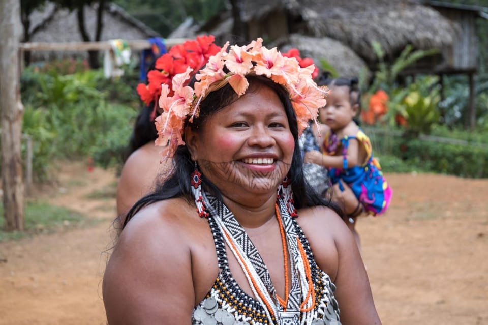
[[[346,189],[354,193],[356,207],[354,210],[346,209],[346,213],[348,225],[360,248],[359,234],[355,229],[357,217],[363,213],[375,216],[384,213],[392,190],[373,156],[369,137],[354,121],[360,112],[357,78],[330,78],[325,72],[318,84],[327,86],[330,92],[327,104],[319,109],[323,150],[309,151],[304,161],[329,169],[329,178],[334,185],[333,197],[338,201],[346,200]],[[350,198],[347,201],[350,202]]]

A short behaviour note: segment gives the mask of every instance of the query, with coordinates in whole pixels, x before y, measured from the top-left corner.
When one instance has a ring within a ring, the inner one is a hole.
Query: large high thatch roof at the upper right
[[[371,42],[394,56],[405,45],[418,49],[451,46],[455,23],[437,10],[408,0],[299,0],[307,34],[329,36],[374,61]]]

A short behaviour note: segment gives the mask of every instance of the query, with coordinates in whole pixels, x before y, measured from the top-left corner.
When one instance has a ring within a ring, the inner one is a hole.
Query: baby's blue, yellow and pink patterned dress
[[[356,139],[364,146],[367,158],[362,165],[347,168],[347,148],[349,140]],[[356,136],[345,136],[338,139],[332,131],[324,139],[324,153],[335,155],[337,150],[342,150],[344,157],[343,168],[329,168],[329,177],[332,184],[340,181],[346,183],[354,192],[364,208],[372,215],[382,214],[388,208],[392,190],[381,172],[379,162],[373,157],[373,149],[370,138],[359,129]]]

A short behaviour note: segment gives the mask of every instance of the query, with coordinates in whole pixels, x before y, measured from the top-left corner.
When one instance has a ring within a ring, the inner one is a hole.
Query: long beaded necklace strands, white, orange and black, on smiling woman
[[[292,200],[289,199],[290,193],[283,193],[285,192],[283,189],[281,192],[282,195],[278,195],[275,211],[284,255],[284,298],[276,293],[259,252],[227,206],[203,190],[201,195],[196,196],[196,201],[200,207],[204,207],[199,210],[208,210],[214,217],[225,242],[245,273],[256,300],[263,306],[269,323],[306,324],[311,322],[315,306],[311,268],[290,216],[296,215]],[[292,213],[289,212],[290,208]],[[291,285],[288,275],[288,252],[290,252]]]

